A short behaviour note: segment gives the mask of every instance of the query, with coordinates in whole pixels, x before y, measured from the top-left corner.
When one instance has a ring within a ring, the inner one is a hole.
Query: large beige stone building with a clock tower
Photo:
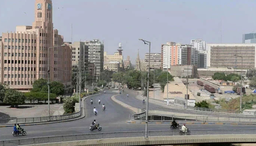
[[[2,33],[0,42],[0,82],[28,92],[38,78],[61,81],[71,87],[71,46],[53,29],[52,1],[35,0],[32,26],[17,26],[15,32]],[[49,47],[61,46],[50,49]],[[49,51],[49,52],[48,52]]]

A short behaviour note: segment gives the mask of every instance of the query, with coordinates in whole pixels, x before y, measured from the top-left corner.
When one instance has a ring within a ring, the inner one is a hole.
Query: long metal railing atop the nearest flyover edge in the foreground
[[[190,135],[225,135],[225,134],[255,134],[256,129],[204,129],[204,130],[189,130]],[[38,137],[26,139],[13,139],[0,141],[0,146],[18,146],[18,145],[35,145],[42,143],[81,141],[90,139],[105,139],[105,138],[126,138],[126,137],[144,137],[145,131],[129,131],[129,132],[104,132],[93,134],[76,134],[76,135],[61,135],[52,137]],[[170,136],[180,135],[180,130],[158,130],[148,131],[148,136]]]

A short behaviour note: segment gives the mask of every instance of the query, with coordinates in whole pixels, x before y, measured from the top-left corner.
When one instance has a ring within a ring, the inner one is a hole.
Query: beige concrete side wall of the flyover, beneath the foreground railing
[[[90,139],[70,142],[37,144],[33,146],[136,146],[136,145],[178,145],[199,143],[256,143],[256,134],[242,135],[170,135],[157,137],[127,137]],[[25,145],[24,145],[25,146]],[[29,145],[27,145],[29,146]]]

